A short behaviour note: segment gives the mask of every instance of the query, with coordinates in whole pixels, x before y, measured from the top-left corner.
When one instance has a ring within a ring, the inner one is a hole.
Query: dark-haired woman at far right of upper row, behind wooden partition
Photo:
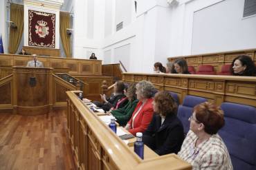
[[[230,72],[234,76],[255,76],[255,64],[250,56],[237,56],[230,66]]]

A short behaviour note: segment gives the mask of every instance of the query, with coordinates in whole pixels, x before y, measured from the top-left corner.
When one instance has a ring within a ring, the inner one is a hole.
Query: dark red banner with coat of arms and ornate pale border
[[[55,14],[28,10],[28,45],[55,48]]]

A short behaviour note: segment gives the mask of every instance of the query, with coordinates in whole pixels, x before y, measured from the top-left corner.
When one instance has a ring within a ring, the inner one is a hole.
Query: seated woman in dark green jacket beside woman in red
[[[110,114],[116,118],[120,126],[125,126],[127,124],[138,103],[135,92],[136,83],[133,83],[129,86],[127,92],[125,90],[125,96],[127,96],[129,102],[124,107],[110,111]]]

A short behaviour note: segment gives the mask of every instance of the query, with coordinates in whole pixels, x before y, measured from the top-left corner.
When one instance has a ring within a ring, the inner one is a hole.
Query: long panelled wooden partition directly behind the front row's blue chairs
[[[126,83],[151,81],[159,90],[176,92],[179,103],[186,95],[194,95],[214,100],[217,105],[231,102],[256,107],[256,77],[123,73],[122,80]]]

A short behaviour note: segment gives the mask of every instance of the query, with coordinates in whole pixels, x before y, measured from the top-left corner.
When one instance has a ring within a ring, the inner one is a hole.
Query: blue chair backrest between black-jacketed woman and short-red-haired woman
[[[184,134],[187,134],[188,130],[190,129],[190,121],[188,118],[190,118],[192,115],[194,106],[205,101],[207,101],[206,98],[197,96],[185,96],[183,104],[179,105],[177,116],[183,124]]]

